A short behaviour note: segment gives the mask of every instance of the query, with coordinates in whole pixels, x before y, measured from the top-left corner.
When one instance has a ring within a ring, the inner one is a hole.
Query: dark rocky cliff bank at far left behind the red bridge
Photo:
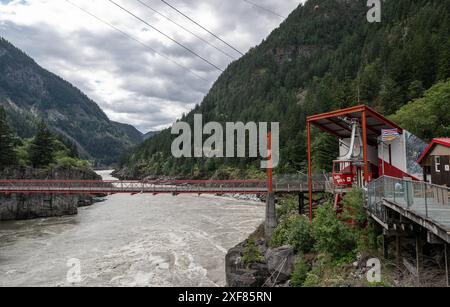
[[[101,177],[85,169],[16,167],[1,170],[0,179],[100,180]],[[79,207],[92,205],[94,201],[86,195],[0,195],[0,221],[75,215]]]

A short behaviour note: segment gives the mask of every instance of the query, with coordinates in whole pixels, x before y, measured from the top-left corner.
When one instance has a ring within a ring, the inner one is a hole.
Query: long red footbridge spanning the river
[[[325,182],[313,182],[314,192],[325,192]],[[274,183],[278,193],[305,193],[307,182]],[[55,181],[0,180],[0,194],[264,194],[265,181]]]

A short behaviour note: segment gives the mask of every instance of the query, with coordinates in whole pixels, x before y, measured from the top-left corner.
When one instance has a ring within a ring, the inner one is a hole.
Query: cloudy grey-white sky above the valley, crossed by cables
[[[161,0],[70,1],[138,42],[65,0],[0,0],[0,36],[80,88],[112,120],[142,132],[167,127],[191,110],[221,72],[111,1],[220,69],[240,56]],[[276,14],[287,16],[301,2],[252,0],[257,8],[247,0],[166,1],[243,53],[282,22]]]

